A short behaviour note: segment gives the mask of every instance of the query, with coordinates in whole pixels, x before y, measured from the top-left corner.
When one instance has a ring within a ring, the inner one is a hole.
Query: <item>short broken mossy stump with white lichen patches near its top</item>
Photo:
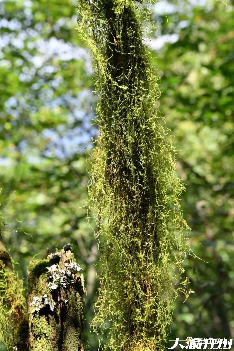
[[[71,245],[33,260],[28,269],[27,308],[32,351],[81,351],[83,276]]]

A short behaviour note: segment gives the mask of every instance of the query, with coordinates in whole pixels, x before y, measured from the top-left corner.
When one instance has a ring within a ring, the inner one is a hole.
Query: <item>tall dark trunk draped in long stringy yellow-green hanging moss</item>
[[[100,135],[91,154],[89,199],[103,233],[95,331],[112,322],[105,350],[164,350],[177,291],[187,292],[186,251],[174,149],[143,43],[143,9],[132,0],[80,0],[78,33],[91,49]],[[177,282],[178,283],[178,282]]]

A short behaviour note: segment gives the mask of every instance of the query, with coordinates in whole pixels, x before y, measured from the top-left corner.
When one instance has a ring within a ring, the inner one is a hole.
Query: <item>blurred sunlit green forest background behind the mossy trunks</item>
[[[100,273],[95,221],[84,207],[86,157],[96,139],[89,51],[76,33],[76,1],[0,1],[0,194],[5,243],[20,277],[46,247],[70,242],[85,275],[89,332]],[[186,275],[195,291],[175,303],[170,340],[234,337],[234,1],[152,6],[146,38],[161,77],[158,108],[177,150],[192,232]],[[88,223],[89,222],[89,223]],[[205,262],[204,262],[205,261]],[[87,346],[88,347],[88,346]],[[1,348],[4,350],[4,346]]]

